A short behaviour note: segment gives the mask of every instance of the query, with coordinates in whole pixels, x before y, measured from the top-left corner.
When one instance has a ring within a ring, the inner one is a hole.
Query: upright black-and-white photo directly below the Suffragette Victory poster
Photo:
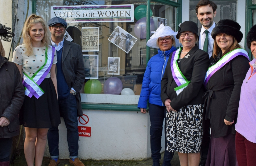
[[[83,55],[85,66],[85,79],[98,79],[99,55]]]

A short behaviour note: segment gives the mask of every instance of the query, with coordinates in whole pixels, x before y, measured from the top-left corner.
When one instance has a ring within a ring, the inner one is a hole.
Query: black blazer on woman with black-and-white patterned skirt
[[[188,58],[183,58],[178,66],[183,75],[190,84],[177,96],[174,88],[178,87],[174,81],[171,73],[171,57],[167,62],[167,66],[161,81],[161,100],[171,100],[171,107],[179,110],[185,105],[203,104],[202,95],[204,93],[204,77],[209,66],[209,55],[203,50],[199,49],[197,45],[193,47],[187,54]]]

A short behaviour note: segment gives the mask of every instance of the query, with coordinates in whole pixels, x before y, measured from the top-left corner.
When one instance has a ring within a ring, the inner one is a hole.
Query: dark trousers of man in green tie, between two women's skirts
[[[205,111],[203,113],[203,138],[202,138],[202,144],[201,144],[201,163],[205,165],[207,155],[208,155],[208,150],[209,150],[209,144],[210,144],[210,139],[211,139],[211,133],[210,133],[210,119],[205,120]]]

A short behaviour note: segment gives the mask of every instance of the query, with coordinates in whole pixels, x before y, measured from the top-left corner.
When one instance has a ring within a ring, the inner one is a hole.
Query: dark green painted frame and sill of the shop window
[[[32,0],[32,14],[36,14],[36,1],[39,0]],[[44,0],[44,1],[50,1],[50,0]],[[75,1],[75,0],[69,0],[69,1]],[[164,5],[169,5],[176,7],[176,29],[178,29],[178,25],[181,22],[181,14],[182,14],[182,8],[181,3],[182,0],[177,0],[177,2],[173,2],[170,0],[147,0],[147,38],[148,41],[150,38],[150,19],[149,19],[149,13],[150,13],[150,5],[153,4],[152,2],[159,2]],[[147,49],[147,63],[150,59],[150,47],[146,47]],[[147,65],[147,64],[146,64]],[[113,110],[113,111],[139,111],[137,108],[137,105],[125,105],[125,104],[97,104],[97,103],[81,103],[82,109],[90,109],[90,110]],[[148,108],[147,108],[148,109]]]

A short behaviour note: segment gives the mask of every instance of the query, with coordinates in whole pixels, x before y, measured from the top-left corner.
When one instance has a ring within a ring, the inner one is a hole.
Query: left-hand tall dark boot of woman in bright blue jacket
[[[161,159],[161,138],[163,128],[157,130],[150,127],[150,145],[151,145],[151,158],[153,159],[153,166],[160,166],[159,160]]]

